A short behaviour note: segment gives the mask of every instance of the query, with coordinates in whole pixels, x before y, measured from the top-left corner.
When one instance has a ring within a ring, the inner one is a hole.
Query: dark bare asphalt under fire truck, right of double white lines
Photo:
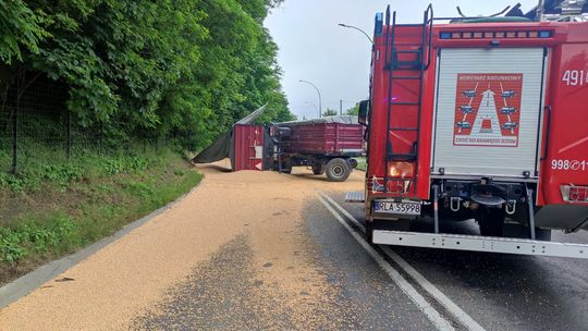
[[[362,206],[334,200],[363,221]],[[421,220],[428,226],[428,220]],[[446,225],[477,234],[474,221]],[[553,232],[553,241],[588,244],[588,232]],[[588,330],[588,260],[391,247],[486,330]]]

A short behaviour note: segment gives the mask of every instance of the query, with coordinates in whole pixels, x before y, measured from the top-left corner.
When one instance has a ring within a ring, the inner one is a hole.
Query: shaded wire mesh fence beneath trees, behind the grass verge
[[[187,132],[119,136],[108,131],[112,125],[85,127],[69,111],[69,97],[66,84],[38,73],[10,84],[0,81],[0,180],[2,173],[25,175],[47,163],[71,164],[87,156],[158,152],[193,138]]]

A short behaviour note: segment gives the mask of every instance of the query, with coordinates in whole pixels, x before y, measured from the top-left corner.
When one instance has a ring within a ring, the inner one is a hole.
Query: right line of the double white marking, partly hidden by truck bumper
[[[319,193],[321,197],[327,198],[336,209],[339,209],[350,221],[358,224],[365,229],[359,221],[347,212],[343,207],[335,203],[332,198],[323,193]],[[422,290],[425,290],[431,297],[433,297],[439,304],[441,304],[453,317],[455,317],[460,323],[466,327],[468,330],[483,331],[485,329],[478,324],[469,315],[467,315],[462,308],[460,308],[454,302],[452,302],[446,295],[444,295],[437,286],[429,282],[422,274],[420,274],[415,268],[413,268],[406,260],[400,255],[390,249],[389,246],[378,245],[382,252],[388,255],[394,262],[396,262],[408,275],[411,275]]]

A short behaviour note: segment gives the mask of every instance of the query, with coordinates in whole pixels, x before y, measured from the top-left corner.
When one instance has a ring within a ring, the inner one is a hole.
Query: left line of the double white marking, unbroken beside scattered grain
[[[396,283],[396,285],[404,292],[416,305],[417,307],[427,316],[427,318],[431,321],[431,323],[437,328],[437,330],[455,330],[452,324],[445,320],[439,311],[437,311],[426,299],[420,295],[416,289],[408,283],[406,279],[404,279],[399,271],[396,271],[390,263],[388,263],[383,257],[381,257],[375,249],[371,247],[362,235],[359,235],[356,231],[354,231],[347,222],[336,212],[336,210],[333,209],[324,200],[321,196],[319,196],[319,200],[324,205],[324,207],[333,214],[333,217],[343,225],[350,234],[362,245],[362,247],[376,260],[376,262],[380,266],[380,268],[383,269],[383,271]]]

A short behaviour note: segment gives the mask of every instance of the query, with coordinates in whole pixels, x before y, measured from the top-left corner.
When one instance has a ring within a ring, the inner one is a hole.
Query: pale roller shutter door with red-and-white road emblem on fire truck
[[[442,49],[437,70],[433,174],[536,177],[546,51]]]

